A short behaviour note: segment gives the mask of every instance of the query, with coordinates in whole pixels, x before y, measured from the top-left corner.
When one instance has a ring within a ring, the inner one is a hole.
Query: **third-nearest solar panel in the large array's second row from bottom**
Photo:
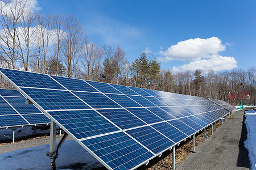
[[[156,116],[154,113],[148,111],[145,108],[129,108],[127,110],[135,114],[135,116],[141,118],[141,120],[143,120],[147,124],[153,124],[155,122],[163,121],[162,118]]]

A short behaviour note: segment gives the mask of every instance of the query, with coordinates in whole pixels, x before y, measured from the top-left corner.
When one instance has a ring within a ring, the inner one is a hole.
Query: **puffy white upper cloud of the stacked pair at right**
[[[189,39],[170,46],[166,51],[160,51],[160,54],[164,57],[159,57],[159,60],[195,61],[201,58],[210,58],[212,54],[217,54],[224,50],[226,50],[226,46],[221,44],[221,40],[218,37]]]

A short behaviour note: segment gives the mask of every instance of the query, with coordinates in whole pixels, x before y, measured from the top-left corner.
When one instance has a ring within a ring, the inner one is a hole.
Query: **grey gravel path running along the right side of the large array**
[[[205,142],[200,142],[196,153],[189,154],[176,169],[250,169],[248,152],[243,146],[247,138],[243,111],[233,116]]]

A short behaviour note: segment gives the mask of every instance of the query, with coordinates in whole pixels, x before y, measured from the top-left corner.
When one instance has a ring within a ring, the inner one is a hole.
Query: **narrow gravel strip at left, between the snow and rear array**
[[[63,137],[63,135],[61,137],[59,135],[57,135],[56,136],[56,142],[59,142],[62,137]],[[47,137],[47,138],[40,138],[40,139],[34,139],[34,140],[27,140],[27,141],[9,143],[9,144],[6,144],[6,145],[0,145],[0,154],[3,154],[5,152],[21,150],[21,149],[24,149],[24,148],[49,144],[49,139],[50,138]],[[66,141],[67,140],[72,140],[72,138],[70,136],[68,136]]]

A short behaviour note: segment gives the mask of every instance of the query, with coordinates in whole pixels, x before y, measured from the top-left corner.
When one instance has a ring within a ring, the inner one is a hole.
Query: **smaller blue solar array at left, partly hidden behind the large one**
[[[49,118],[34,104],[26,104],[18,90],[0,89],[0,128],[48,123]]]

